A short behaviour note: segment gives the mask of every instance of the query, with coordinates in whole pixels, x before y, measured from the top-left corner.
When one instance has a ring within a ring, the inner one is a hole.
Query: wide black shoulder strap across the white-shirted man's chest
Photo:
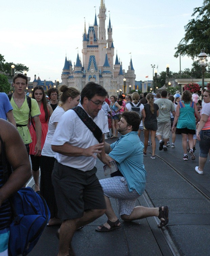
[[[73,107],[73,110],[77,113],[79,118],[88,127],[88,129],[93,133],[94,137],[101,143],[103,141],[103,134],[99,126],[93,122],[93,120],[87,115],[85,110],[80,106]]]

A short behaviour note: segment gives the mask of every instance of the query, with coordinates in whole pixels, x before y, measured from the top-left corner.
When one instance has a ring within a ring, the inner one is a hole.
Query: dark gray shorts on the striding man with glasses
[[[62,165],[56,160],[52,171],[52,184],[60,219],[81,218],[88,209],[106,209],[103,189],[96,171],[94,167],[83,172]]]

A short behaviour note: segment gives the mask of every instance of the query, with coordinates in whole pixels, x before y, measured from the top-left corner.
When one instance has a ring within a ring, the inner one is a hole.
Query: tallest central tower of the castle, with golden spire
[[[106,7],[101,0],[101,6],[99,8],[99,37],[98,37],[98,48],[99,48],[99,62],[98,67],[99,70],[102,69],[104,62],[105,62],[105,55],[106,55],[106,29],[105,29],[105,20],[106,20]]]

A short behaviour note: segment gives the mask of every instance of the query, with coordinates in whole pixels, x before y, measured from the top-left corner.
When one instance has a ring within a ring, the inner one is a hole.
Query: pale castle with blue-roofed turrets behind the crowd
[[[88,82],[96,82],[102,85],[109,95],[117,95],[117,90],[128,93],[129,85],[135,85],[135,71],[130,59],[127,73],[122,69],[122,62],[116,54],[115,64],[114,45],[112,39],[112,27],[109,17],[106,39],[106,7],[104,0],[101,0],[99,8],[99,25],[95,14],[94,25],[89,25],[88,33],[86,25],[83,33],[82,62],[77,54],[77,61],[72,66],[71,61],[65,58],[63,72],[61,74],[62,84],[68,87],[74,86],[80,91]],[[123,80],[124,79],[124,80]],[[125,81],[126,79],[126,81]]]

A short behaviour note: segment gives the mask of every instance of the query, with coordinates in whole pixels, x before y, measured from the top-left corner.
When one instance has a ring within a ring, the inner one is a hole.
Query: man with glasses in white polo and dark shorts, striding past
[[[89,82],[81,92],[80,111],[83,109],[104,134],[106,117],[101,110],[106,90]],[[76,108],[78,108],[76,107]],[[99,130],[99,132],[100,132]],[[102,143],[80,119],[75,110],[69,109],[58,122],[51,142],[57,159],[52,172],[52,183],[58,204],[58,217],[63,220],[60,228],[58,256],[75,255],[71,239],[75,231],[105,213],[106,204],[102,187],[96,176],[97,153],[104,164],[109,164]]]

